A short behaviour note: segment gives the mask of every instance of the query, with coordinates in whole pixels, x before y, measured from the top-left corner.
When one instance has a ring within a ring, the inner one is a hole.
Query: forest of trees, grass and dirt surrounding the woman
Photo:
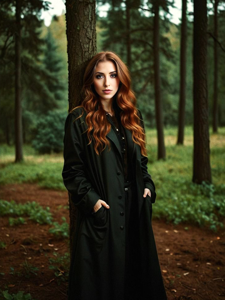
[[[47,27],[50,1],[0,1],[0,300],[67,299],[64,124],[106,50],[128,66],[144,118],[168,300],[225,297],[225,2],[180,0],[177,24],[175,6],[65,0]]]

